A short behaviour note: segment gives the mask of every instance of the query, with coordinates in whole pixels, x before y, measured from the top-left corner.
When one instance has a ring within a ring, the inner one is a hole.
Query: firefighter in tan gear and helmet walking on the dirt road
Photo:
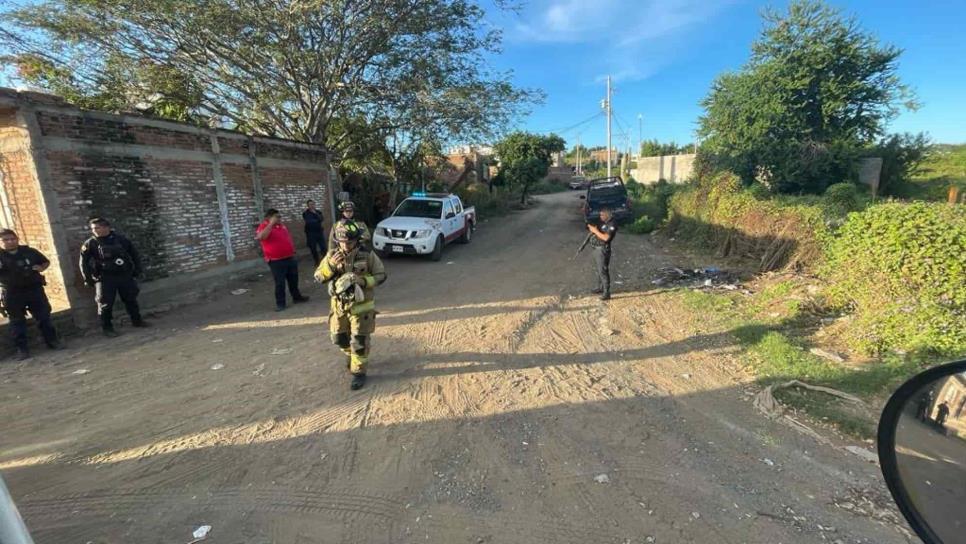
[[[315,279],[329,282],[331,308],[329,332],[332,343],[345,354],[350,387],[366,383],[370,336],[376,330],[374,288],[386,281],[386,270],[375,253],[360,247],[362,229],[352,221],[339,221],[333,228],[338,244],[329,250],[315,271]]]

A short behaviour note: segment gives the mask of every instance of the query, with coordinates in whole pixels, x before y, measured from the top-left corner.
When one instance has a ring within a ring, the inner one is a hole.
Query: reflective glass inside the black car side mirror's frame
[[[912,507],[944,543],[966,543],[966,372],[914,393],[896,425],[896,463]]]

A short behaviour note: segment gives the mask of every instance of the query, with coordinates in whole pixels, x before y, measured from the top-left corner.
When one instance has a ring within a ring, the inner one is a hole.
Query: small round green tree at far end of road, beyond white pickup
[[[525,204],[530,186],[547,176],[554,153],[567,148],[556,134],[542,136],[514,132],[494,146],[500,159],[497,184],[520,189],[520,202]]]

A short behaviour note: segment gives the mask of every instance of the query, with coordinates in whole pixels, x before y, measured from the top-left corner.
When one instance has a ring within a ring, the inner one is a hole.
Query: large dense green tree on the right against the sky
[[[775,192],[820,193],[852,174],[901,108],[896,47],[814,0],[764,13],[749,62],[718,77],[701,105],[702,151]]]

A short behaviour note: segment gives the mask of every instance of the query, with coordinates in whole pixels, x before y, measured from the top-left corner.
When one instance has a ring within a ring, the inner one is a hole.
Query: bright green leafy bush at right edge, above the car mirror
[[[853,347],[966,353],[966,207],[888,203],[849,216],[827,248],[832,304]]]

